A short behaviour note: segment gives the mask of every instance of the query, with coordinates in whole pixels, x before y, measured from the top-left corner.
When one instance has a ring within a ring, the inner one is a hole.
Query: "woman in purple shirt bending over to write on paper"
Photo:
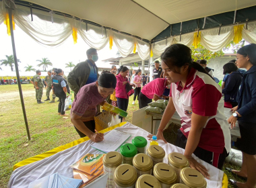
[[[106,97],[115,91],[117,79],[112,73],[102,73],[98,81],[85,85],[79,89],[71,107],[71,122],[82,138],[88,136],[93,142],[100,142],[104,134],[97,134],[94,116],[97,105],[103,105]]]

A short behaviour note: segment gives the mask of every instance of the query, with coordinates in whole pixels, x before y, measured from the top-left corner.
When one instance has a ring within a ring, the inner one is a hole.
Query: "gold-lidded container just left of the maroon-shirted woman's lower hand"
[[[183,154],[172,152],[168,154],[168,164],[170,164],[170,166],[177,173],[177,183],[179,183],[181,169],[189,167],[189,161]]]

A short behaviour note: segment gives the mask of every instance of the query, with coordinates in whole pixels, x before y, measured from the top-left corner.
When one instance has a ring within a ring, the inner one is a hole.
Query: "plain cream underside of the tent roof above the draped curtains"
[[[173,23],[256,5],[255,0],[29,0],[28,2],[147,40],[152,40]]]

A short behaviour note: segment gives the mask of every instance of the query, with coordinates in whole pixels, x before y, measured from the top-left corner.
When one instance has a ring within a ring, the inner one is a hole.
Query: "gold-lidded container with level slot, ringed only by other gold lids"
[[[162,188],[170,188],[177,182],[177,174],[169,164],[159,162],[154,166],[154,177],[158,179]]]

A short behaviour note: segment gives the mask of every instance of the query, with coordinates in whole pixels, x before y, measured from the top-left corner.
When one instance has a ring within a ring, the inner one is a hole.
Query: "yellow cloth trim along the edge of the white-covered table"
[[[112,126],[110,128],[106,128],[104,130],[101,130],[100,132],[101,133],[104,133],[104,132],[108,132],[110,130],[113,130],[115,128],[118,128],[118,127],[121,127],[123,126],[124,124],[126,124],[126,122],[123,122],[121,124],[117,124],[116,126]],[[13,171],[15,169],[18,169],[19,167],[22,167],[22,166],[25,166],[26,164],[30,164],[32,162],[36,162],[38,160],[42,160],[46,157],[49,157],[49,156],[52,156],[53,154],[56,154],[57,152],[61,152],[63,150],[66,150],[68,148],[71,148],[73,146],[76,146],[77,144],[81,144],[82,142],[86,142],[87,140],[90,140],[90,138],[88,138],[87,136],[84,137],[84,138],[80,138],[79,140],[75,140],[73,142],[70,142],[69,144],[65,144],[63,146],[59,146],[57,148],[54,148],[53,150],[49,150],[47,152],[44,152],[42,154],[38,154],[36,156],[32,156],[30,158],[27,158],[25,160],[22,160],[20,162],[18,162],[17,164],[14,164],[13,166]],[[227,188],[228,187],[228,177],[227,175],[224,173],[223,175],[223,178],[222,178],[222,188]]]

